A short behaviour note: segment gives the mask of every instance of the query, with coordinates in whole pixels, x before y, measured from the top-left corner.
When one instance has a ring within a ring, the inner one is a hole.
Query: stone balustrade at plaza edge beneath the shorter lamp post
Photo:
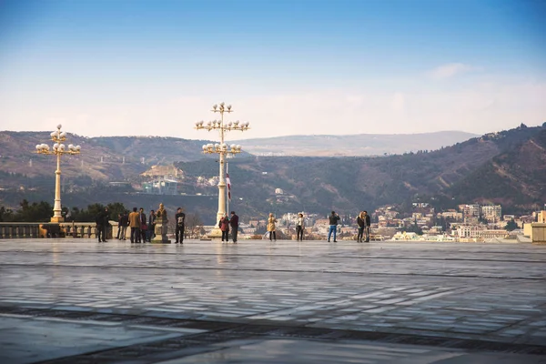
[[[0,222],[0,238],[96,238],[96,223]]]

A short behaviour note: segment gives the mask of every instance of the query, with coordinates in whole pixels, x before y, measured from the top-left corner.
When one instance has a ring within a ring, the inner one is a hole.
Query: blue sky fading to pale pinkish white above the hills
[[[0,0],[0,130],[228,140],[546,121],[541,0]],[[243,146],[244,147],[244,146]]]

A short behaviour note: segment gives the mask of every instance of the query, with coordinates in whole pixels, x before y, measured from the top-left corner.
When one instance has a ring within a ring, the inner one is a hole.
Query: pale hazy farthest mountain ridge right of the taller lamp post
[[[350,136],[278,136],[240,140],[255,156],[366,157],[436,150],[476,137],[462,131]]]

